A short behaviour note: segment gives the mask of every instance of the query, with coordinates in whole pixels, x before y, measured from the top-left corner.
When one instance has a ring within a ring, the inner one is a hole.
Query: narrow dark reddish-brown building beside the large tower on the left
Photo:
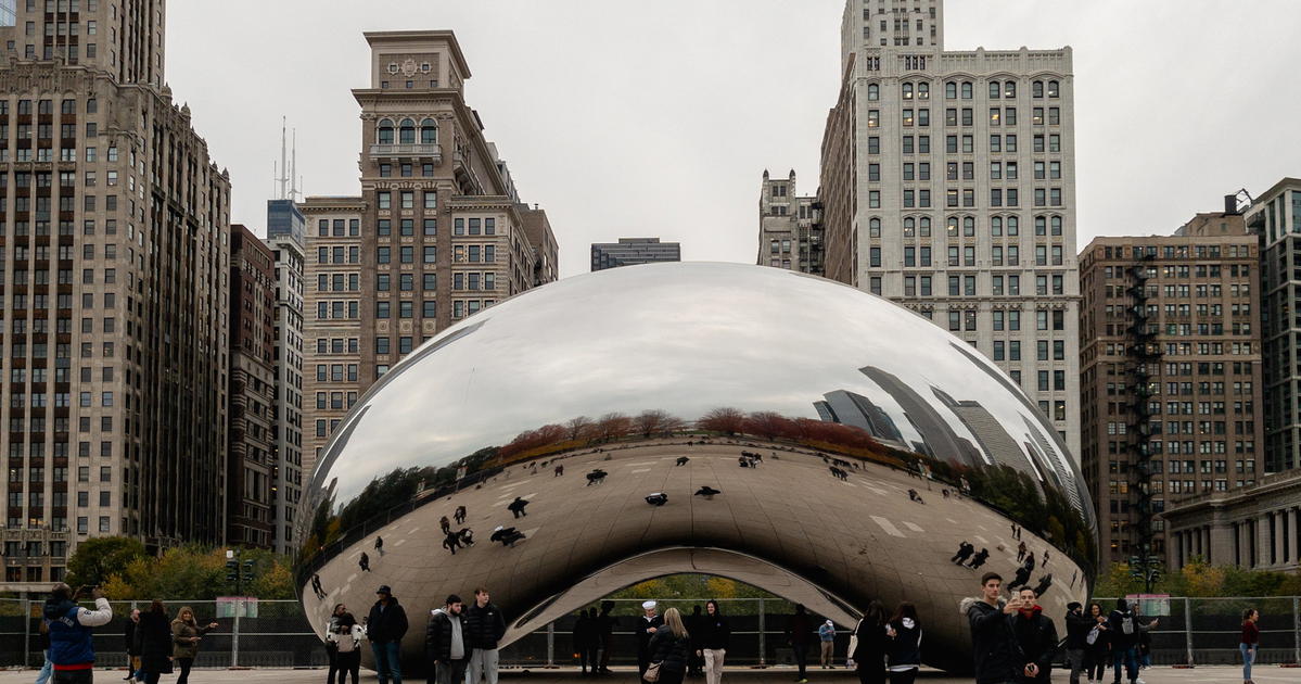
[[[271,549],[276,406],[276,280],[271,249],[230,227],[230,456],[226,539]]]

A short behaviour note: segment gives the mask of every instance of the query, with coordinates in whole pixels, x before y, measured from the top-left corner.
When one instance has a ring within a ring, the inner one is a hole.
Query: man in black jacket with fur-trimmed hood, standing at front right
[[[972,629],[976,684],[1017,681],[1025,664],[1021,648],[1012,637],[1010,618],[1016,612],[1017,602],[1003,601],[1003,577],[997,572],[981,576],[980,585],[981,597],[963,599],[959,608]]]

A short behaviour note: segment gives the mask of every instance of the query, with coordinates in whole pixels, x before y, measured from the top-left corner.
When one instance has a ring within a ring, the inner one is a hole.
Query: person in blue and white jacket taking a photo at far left
[[[42,610],[42,624],[49,633],[46,659],[53,666],[55,684],[91,684],[95,679],[95,644],[91,628],[108,624],[113,608],[95,588],[95,610],[77,606],[77,593],[64,582],[55,585]]]

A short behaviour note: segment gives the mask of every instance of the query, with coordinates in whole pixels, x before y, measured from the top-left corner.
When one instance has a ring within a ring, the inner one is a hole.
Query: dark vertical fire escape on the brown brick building
[[[1158,323],[1154,311],[1149,310],[1147,280],[1151,278],[1151,263],[1157,254],[1153,248],[1133,248],[1133,263],[1129,266],[1129,327],[1125,328],[1125,357],[1133,400],[1129,404],[1128,448],[1131,476],[1131,547],[1129,569],[1151,591],[1151,585],[1160,572],[1160,556],[1153,552],[1153,502],[1151,476],[1154,473],[1153,455],[1149,447],[1151,439],[1151,397],[1157,393],[1154,378],[1160,370],[1160,344],[1157,341]],[[1140,251],[1141,250],[1141,251]]]

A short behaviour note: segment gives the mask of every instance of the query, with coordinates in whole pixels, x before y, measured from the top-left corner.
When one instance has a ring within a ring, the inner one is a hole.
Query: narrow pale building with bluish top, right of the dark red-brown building
[[[291,199],[267,202],[276,279],[276,395],[272,405],[272,521],[276,552],[294,550],[294,509],[303,491],[303,229]]]

